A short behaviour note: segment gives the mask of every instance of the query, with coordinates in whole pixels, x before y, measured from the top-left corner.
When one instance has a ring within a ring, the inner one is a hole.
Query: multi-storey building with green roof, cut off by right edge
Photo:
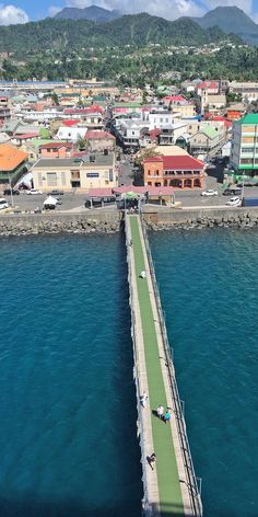
[[[258,113],[234,122],[231,164],[239,174],[258,174]]]

